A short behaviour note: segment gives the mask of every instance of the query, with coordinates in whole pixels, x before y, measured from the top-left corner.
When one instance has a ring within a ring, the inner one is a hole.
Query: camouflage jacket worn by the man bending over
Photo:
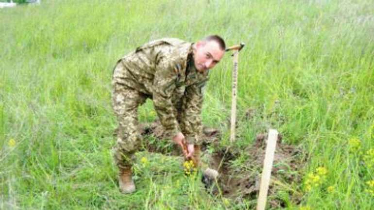
[[[156,113],[170,137],[181,131],[187,143],[200,144],[202,88],[209,70],[197,71],[192,53],[192,43],[175,38],[155,40],[120,59],[118,63],[126,72],[113,78],[153,98]],[[178,92],[183,96],[181,126],[172,101]]]

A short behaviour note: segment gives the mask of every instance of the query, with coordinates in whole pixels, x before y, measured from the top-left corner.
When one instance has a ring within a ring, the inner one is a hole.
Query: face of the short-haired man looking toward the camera
[[[213,40],[197,42],[193,52],[195,67],[200,72],[213,68],[220,62],[225,53],[225,51],[220,48],[220,45]]]

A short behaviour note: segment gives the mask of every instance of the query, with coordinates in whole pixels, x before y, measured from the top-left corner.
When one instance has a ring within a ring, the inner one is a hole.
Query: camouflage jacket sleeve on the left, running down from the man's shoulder
[[[181,65],[176,61],[162,59],[156,65],[153,80],[153,105],[161,124],[171,139],[180,132],[179,124],[174,116],[175,107],[171,96],[176,88],[175,81],[178,78]]]

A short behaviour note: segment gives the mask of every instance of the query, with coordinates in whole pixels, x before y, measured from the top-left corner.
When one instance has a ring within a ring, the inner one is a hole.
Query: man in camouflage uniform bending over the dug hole
[[[113,70],[112,105],[119,122],[115,161],[123,193],[135,191],[132,156],[141,142],[137,107],[147,98],[153,100],[170,139],[180,146],[187,142],[185,157],[199,160],[202,88],[224,50],[224,41],[217,35],[196,43],[165,38],[146,43],[118,61]]]

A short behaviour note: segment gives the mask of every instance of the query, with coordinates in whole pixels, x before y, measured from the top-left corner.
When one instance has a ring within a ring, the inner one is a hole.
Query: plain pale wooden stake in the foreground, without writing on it
[[[265,210],[266,198],[268,196],[270,177],[272,175],[272,163],[274,160],[274,152],[276,140],[278,139],[278,131],[275,129],[269,130],[268,141],[266,144],[264,168],[262,170],[260,192],[257,199],[257,210]]]

